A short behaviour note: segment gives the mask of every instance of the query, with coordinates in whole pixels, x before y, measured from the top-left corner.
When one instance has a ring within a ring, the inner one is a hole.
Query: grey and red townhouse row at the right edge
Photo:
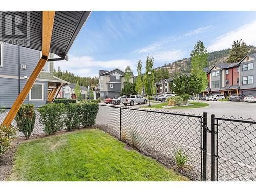
[[[205,68],[208,79],[206,93],[223,94],[256,94],[256,54],[245,55],[238,63],[220,63]]]

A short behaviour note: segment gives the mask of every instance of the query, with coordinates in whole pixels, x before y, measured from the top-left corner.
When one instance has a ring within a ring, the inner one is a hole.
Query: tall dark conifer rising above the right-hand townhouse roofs
[[[227,58],[227,63],[239,62],[248,53],[248,51],[249,48],[242,39],[234,41],[229,57]]]

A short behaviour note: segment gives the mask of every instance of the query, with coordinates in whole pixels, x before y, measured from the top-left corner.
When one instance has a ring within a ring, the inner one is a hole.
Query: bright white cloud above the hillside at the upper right
[[[245,24],[236,30],[225,33],[217,37],[210,46],[208,51],[217,51],[231,48],[233,41],[243,39],[248,45],[256,45],[256,20]]]

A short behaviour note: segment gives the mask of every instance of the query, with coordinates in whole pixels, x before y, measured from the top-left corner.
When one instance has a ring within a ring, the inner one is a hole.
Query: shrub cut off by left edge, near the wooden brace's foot
[[[16,134],[17,129],[15,127],[0,125],[0,155],[8,150]]]

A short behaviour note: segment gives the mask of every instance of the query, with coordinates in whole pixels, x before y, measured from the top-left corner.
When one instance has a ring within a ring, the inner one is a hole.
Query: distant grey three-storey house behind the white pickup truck
[[[116,68],[111,71],[99,70],[100,99],[119,97],[122,88],[124,88],[125,72]],[[129,82],[133,82],[133,73],[129,74]]]

